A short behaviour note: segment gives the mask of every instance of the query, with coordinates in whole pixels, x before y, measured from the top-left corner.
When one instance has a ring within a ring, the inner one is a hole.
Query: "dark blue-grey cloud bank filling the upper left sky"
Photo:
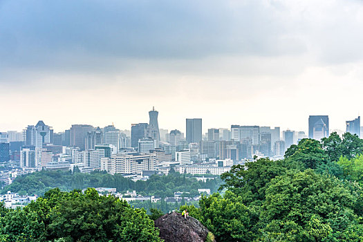
[[[0,68],[97,71],[129,58],[303,53],[275,8],[263,1],[3,1]]]

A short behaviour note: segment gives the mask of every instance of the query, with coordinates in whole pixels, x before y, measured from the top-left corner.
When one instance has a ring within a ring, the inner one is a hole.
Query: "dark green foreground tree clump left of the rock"
[[[52,189],[24,210],[0,205],[0,241],[160,241],[145,210],[95,189]]]

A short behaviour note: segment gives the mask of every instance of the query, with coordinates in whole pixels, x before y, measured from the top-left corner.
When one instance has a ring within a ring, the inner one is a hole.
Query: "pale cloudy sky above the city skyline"
[[[362,0],[0,0],[0,131],[130,129],[152,106],[169,130],[345,130],[362,44]]]

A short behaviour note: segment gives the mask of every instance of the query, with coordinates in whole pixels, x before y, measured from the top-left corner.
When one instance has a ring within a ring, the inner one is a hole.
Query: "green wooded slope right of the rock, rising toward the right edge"
[[[363,241],[363,142],[304,139],[283,160],[236,165],[221,196],[187,206],[217,241]]]

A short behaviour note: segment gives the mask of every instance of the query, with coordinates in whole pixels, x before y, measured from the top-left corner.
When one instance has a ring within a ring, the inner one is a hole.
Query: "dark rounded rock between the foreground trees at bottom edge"
[[[185,219],[172,212],[156,219],[155,226],[160,229],[160,238],[165,242],[204,242],[208,230],[196,218]]]

